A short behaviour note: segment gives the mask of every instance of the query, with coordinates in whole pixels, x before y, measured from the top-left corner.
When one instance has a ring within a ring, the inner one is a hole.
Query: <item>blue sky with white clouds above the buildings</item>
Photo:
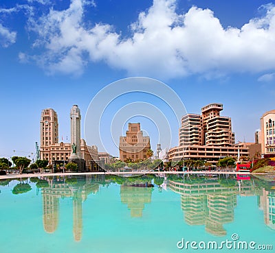
[[[236,141],[254,141],[261,115],[274,109],[274,48],[274,1],[3,0],[0,156],[35,151],[43,108],[58,112],[59,138],[65,141],[69,109],[78,104],[84,137],[93,97],[132,76],[164,82],[187,112],[222,103],[222,115],[232,117]],[[141,94],[115,105],[126,101],[158,106],[157,99]],[[136,120],[155,136],[152,122]],[[106,124],[103,131],[109,129]],[[153,138],[154,150],[156,143]],[[171,145],[177,145],[177,138]],[[115,147],[107,151],[118,155]]]

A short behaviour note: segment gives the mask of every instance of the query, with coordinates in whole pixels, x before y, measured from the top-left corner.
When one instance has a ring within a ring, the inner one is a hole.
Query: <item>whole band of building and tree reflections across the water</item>
[[[133,178],[104,175],[55,176],[20,180],[13,187],[12,193],[28,194],[24,187],[30,182],[35,183],[36,188],[40,189],[39,193],[43,200],[43,227],[47,233],[54,233],[58,228],[60,200],[67,197],[72,199],[72,231],[75,241],[80,241],[83,236],[83,202],[87,200],[88,195],[98,194],[100,186],[109,186],[113,183],[120,186],[118,201],[125,208],[129,208],[131,217],[142,218],[146,204],[153,202],[154,195],[159,194],[159,191],[155,191],[153,195],[155,185],[158,188],[162,187],[162,192],[173,191],[180,195],[181,210],[186,224],[204,226],[206,232],[214,236],[227,234],[224,225],[234,221],[238,196],[256,195],[258,206],[263,211],[264,223],[268,228],[275,230],[273,176],[238,178],[198,175],[163,175],[163,178],[153,175]],[[9,183],[10,180],[0,181],[0,186],[8,186]]]

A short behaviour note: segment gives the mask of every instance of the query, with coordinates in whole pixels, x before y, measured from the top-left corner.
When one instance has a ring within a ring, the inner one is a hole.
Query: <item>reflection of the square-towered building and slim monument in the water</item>
[[[80,241],[83,231],[82,204],[91,193],[98,192],[102,176],[83,176],[77,178],[46,178],[49,187],[42,188],[43,197],[43,226],[45,232],[53,233],[58,227],[59,200],[72,198],[73,202],[73,233],[74,240]]]

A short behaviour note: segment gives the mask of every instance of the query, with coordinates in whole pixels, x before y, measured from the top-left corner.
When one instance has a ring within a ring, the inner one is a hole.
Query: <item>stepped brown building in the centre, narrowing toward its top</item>
[[[151,149],[150,137],[143,136],[140,123],[129,123],[126,136],[120,136],[120,160],[144,160],[148,158],[147,151]]]

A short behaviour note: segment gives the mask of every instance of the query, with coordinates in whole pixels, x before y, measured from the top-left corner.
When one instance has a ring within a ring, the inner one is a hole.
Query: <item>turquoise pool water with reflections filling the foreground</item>
[[[273,177],[28,178],[2,180],[0,191],[1,253],[252,252],[234,249],[239,241],[275,252]]]

